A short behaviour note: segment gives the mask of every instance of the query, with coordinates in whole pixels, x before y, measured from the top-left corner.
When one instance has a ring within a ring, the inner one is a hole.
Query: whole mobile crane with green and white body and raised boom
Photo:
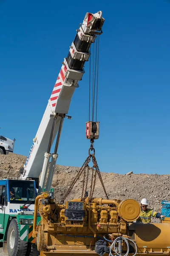
[[[62,62],[26,163],[20,169],[20,177],[0,180],[0,241],[3,242],[3,252],[8,251],[9,256],[36,256],[39,253],[35,246],[36,239],[32,237],[35,198],[44,189],[50,157],[45,191],[51,188],[63,120],[65,117],[71,118],[67,115],[71,98],[85,73],[83,67],[90,57],[91,44],[102,34],[104,21],[101,11],[86,13],[67,58]],[[51,155],[51,145],[56,135],[55,149]],[[39,223],[40,217],[36,219]]]

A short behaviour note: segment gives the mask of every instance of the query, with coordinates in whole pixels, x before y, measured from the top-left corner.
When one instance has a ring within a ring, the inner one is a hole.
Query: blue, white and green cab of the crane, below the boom
[[[17,218],[18,224],[22,215],[33,218],[36,196],[34,180],[0,180],[0,241],[4,241],[13,218]]]

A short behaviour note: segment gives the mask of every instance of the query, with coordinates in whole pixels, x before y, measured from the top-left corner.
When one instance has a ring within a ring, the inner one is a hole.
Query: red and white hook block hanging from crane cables
[[[92,122],[88,121],[85,123],[86,129],[85,129],[85,136],[86,139],[99,139],[99,122]]]

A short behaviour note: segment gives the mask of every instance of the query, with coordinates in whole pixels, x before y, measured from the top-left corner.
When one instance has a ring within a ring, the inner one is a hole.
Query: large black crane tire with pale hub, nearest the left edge
[[[7,250],[8,256],[25,256],[28,242],[20,239],[20,231],[17,219],[12,219],[7,233]]]

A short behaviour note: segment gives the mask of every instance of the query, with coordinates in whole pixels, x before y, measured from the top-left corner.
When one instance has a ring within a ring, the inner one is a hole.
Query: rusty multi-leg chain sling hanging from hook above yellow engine
[[[94,151],[93,154],[90,154],[90,150]],[[74,185],[77,183],[77,181],[79,180],[80,177],[82,177],[83,175],[83,180],[82,180],[82,196],[81,196],[81,200],[85,201],[86,198],[86,191],[87,191],[87,187],[88,187],[88,180],[89,180],[89,173],[90,170],[92,170],[92,175],[91,175],[91,185],[90,185],[90,194],[89,194],[89,202],[91,202],[93,200],[93,194],[94,194],[94,188],[95,188],[95,184],[96,184],[96,175],[99,176],[99,180],[102,184],[102,188],[105,192],[105,196],[108,199],[108,195],[105,189],[105,185],[103,183],[102,180],[102,176],[99,170],[99,166],[97,164],[96,161],[96,157],[94,156],[95,154],[95,150],[93,148],[93,143],[91,143],[91,147],[88,150],[88,157],[86,158],[85,162],[83,163],[82,167],[79,169],[79,172],[77,173],[76,177],[74,178],[73,182],[71,183],[71,186],[68,188],[68,191],[65,193],[64,197],[62,198],[60,204],[63,204],[65,199],[68,197],[68,195],[70,194],[71,190],[73,189]],[[93,162],[93,167],[90,167],[88,164],[90,163],[90,161],[92,160]]]

